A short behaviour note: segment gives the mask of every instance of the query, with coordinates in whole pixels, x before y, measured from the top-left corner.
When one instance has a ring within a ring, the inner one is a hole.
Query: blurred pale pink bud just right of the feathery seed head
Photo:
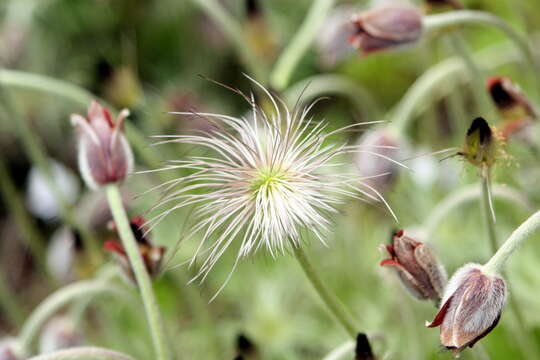
[[[384,192],[394,184],[399,174],[399,165],[382,156],[398,160],[399,145],[395,136],[385,129],[367,131],[359,139],[358,147],[361,151],[355,154],[354,161],[363,183],[378,192]]]

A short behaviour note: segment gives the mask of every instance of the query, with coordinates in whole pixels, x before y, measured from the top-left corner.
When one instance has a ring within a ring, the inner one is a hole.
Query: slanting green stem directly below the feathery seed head
[[[352,322],[352,316],[347,313],[336,295],[323,283],[302,247],[293,245],[293,249],[298,263],[300,263],[311,285],[313,285],[313,288],[319,294],[328,310],[335,316],[336,320],[343,326],[351,338],[356,339],[358,330]]]

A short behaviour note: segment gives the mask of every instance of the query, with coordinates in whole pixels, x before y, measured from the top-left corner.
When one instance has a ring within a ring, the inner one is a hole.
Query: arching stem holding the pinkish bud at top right
[[[531,71],[533,74],[535,74],[537,80],[540,80],[536,59],[526,38],[516,32],[506,21],[493,14],[476,10],[456,10],[442,14],[425,16],[423,24],[427,31],[466,24],[484,24],[496,27],[500,31],[504,32],[508,38],[516,44],[523,57],[531,67]],[[540,89],[540,82],[536,81],[536,83],[537,88]]]

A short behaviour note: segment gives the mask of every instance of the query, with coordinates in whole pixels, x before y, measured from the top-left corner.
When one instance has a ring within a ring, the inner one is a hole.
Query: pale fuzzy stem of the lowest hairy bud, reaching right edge
[[[510,256],[517,250],[519,245],[531,234],[540,228],[540,211],[535,212],[523,222],[510,237],[501,245],[497,252],[484,265],[483,272],[488,275],[497,275],[501,272]]]

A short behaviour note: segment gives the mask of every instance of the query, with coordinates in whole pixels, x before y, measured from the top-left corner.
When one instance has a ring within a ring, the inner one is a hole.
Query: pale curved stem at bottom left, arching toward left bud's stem
[[[117,293],[129,297],[129,294],[115,288],[109,281],[86,280],[65,286],[46,298],[26,320],[20,331],[19,341],[23,352],[29,353],[40,329],[63,306],[77,298],[88,298],[103,293]]]

